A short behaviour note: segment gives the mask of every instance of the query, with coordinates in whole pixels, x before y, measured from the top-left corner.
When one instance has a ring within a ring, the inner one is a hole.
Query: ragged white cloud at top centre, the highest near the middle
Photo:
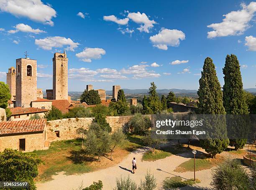
[[[133,20],[133,22],[141,24],[141,26],[137,28],[140,32],[149,33],[148,29],[153,28],[154,24],[156,24],[154,20],[149,20],[145,13],[129,13],[127,17]]]

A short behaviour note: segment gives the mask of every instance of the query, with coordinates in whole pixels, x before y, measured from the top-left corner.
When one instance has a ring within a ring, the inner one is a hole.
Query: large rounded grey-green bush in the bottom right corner
[[[215,190],[252,190],[249,175],[238,159],[227,159],[212,172]]]

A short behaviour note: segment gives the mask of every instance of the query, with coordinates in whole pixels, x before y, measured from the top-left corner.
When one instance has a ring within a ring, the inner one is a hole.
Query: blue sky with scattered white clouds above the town
[[[243,85],[256,83],[256,2],[0,0],[0,80],[28,51],[38,88],[52,88],[52,57],[67,50],[69,91],[198,89],[205,57],[223,85],[227,54]],[[207,27],[208,26],[208,27]]]

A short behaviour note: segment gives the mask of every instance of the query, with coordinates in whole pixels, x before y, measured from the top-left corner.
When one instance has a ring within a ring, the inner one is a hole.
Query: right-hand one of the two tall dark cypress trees
[[[236,55],[227,55],[225,67],[223,68],[224,86],[223,86],[223,105],[227,114],[248,114],[248,105],[243,91],[243,82],[240,71],[239,61]],[[232,126],[232,133],[239,136],[246,126],[243,120],[228,120],[228,126]],[[232,123],[230,123],[232,122]],[[237,123],[239,122],[239,123]],[[243,128],[243,130],[241,130]],[[231,134],[228,134],[230,136]],[[242,134],[241,134],[242,135]],[[247,139],[230,139],[230,145],[234,145],[235,149],[243,148]]]

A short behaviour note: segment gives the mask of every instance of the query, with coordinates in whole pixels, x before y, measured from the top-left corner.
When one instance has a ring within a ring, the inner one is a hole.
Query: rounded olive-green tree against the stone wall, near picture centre
[[[145,135],[148,132],[148,129],[151,128],[149,117],[143,116],[141,113],[133,115],[128,124],[133,132],[138,135]]]

